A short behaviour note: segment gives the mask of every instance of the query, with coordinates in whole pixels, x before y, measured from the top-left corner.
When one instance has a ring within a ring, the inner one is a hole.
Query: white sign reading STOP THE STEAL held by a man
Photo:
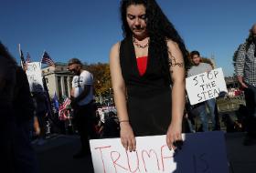
[[[187,95],[191,105],[228,93],[221,68],[186,78]]]

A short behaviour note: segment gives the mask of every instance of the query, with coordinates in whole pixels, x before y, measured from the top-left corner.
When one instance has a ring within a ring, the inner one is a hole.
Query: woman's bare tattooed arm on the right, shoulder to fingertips
[[[174,142],[182,140],[182,119],[185,108],[185,65],[184,57],[177,46],[171,40],[167,41],[169,60],[171,62],[170,73],[173,81],[172,87],[172,122],[167,130],[166,143],[169,148],[176,148]]]

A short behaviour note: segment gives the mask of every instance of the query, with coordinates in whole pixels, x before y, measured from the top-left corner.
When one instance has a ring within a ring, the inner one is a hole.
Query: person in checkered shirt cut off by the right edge
[[[236,58],[235,72],[240,86],[244,89],[249,115],[246,120],[247,135],[243,144],[256,144],[256,24],[251,26],[250,35],[240,45]]]

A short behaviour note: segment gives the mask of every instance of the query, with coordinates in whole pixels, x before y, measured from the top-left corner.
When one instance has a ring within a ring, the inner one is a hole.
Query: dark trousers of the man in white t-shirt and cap
[[[95,112],[91,103],[74,109],[74,120],[79,131],[82,152],[90,151],[89,139],[97,138],[97,133],[94,130],[94,118]]]

